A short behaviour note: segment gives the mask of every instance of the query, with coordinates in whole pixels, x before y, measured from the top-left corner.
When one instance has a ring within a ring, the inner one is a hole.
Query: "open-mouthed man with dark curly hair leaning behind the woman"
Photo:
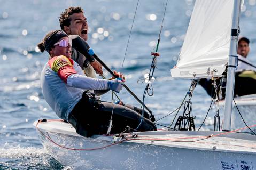
[[[94,61],[92,56],[86,56],[84,48],[88,46],[85,41],[88,40],[88,23],[87,18],[84,16],[83,9],[81,7],[69,7],[65,9],[59,17],[60,28],[67,33],[70,39],[72,39],[72,59],[76,61],[79,66],[84,70],[84,73],[88,77],[95,78],[95,71],[98,74],[102,74],[102,65],[98,61]],[[78,36],[77,36],[78,35]],[[123,74],[114,71],[114,74],[122,79],[125,79]],[[112,77],[111,79],[114,79]],[[102,95],[107,91],[95,91],[96,95]]]

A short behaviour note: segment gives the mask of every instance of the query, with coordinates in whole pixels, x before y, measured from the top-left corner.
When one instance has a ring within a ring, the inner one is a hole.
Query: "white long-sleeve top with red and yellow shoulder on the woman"
[[[108,80],[84,75],[81,67],[66,56],[55,56],[45,64],[41,74],[43,96],[61,119],[69,113],[86,90],[108,89]]]

